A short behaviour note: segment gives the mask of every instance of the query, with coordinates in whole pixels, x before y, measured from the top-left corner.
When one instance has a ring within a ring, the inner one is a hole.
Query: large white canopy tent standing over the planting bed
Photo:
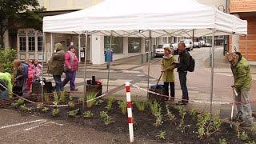
[[[247,22],[195,0],[105,0],[85,10],[43,18],[43,32],[142,38],[212,35],[212,102],[214,36],[247,34]]]

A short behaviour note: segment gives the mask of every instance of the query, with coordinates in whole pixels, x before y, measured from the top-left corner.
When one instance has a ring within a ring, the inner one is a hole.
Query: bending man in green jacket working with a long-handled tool
[[[250,107],[250,86],[252,78],[250,74],[250,65],[243,58],[239,52],[227,54],[227,59],[230,62],[230,68],[234,75],[234,88],[238,92],[238,96],[235,97],[238,114],[233,119],[234,121],[242,122],[240,126],[248,127],[253,122],[252,110]],[[243,117],[245,115],[245,117]]]

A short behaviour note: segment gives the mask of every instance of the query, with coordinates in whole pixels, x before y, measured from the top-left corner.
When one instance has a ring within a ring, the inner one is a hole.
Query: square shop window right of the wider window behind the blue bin
[[[128,53],[140,53],[141,42],[141,38],[128,38]]]

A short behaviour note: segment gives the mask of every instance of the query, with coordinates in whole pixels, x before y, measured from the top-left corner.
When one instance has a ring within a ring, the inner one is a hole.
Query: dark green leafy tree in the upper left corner
[[[0,47],[4,47],[3,35],[15,26],[42,29],[42,10],[38,0],[0,0]]]

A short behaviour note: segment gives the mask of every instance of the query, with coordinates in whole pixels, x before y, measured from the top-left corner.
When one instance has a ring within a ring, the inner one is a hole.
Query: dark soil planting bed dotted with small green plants
[[[76,102],[77,100],[73,100]],[[70,107],[60,107],[58,116],[52,116],[53,107],[49,107],[49,110],[46,112],[42,112],[42,110],[38,109],[37,106],[34,106],[30,103],[26,103],[26,107],[32,108],[30,112],[26,110],[22,110],[21,107],[14,108],[10,106],[10,109],[18,110],[22,115],[26,116],[26,114],[36,114],[40,115],[44,118],[50,119],[60,119],[65,120],[66,122],[73,122],[78,124],[79,126],[86,126],[93,128],[94,130],[107,132],[111,134],[122,135],[122,137],[118,137],[114,139],[114,142],[129,142],[129,131],[128,131],[128,122],[127,122],[127,114],[122,114],[122,111],[119,107],[118,102],[114,102],[112,109],[107,110],[107,101],[101,100],[102,103],[88,108],[86,107],[86,111],[90,110],[93,115],[92,118],[84,118],[84,114],[82,114],[82,104],[75,105],[74,108],[70,109]],[[182,107],[182,106],[180,106]],[[156,116],[151,114],[150,106],[146,106],[144,111],[139,111],[136,106],[133,105],[133,117],[134,117],[134,140],[140,142],[164,142],[164,143],[220,143],[219,139],[226,140],[227,143],[247,143],[256,140],[256,132],[255,130],[250,129],[242,129],[239,128],[240,133],[245,131],[248,138],[246,140],[242,140],[242,138],[238,138],[238,127],[230,129],[229,123],[222,122],[219,130],[214,134],[211,134],[208,138],[198,138],[198,118],[193,118],[190,114],[190,111],[186,111],[184,117],[184,129],[180,128],[181,122],[181,114],[176,106],[170,106],[170,112],[174,114],[174,119],[170,121],[170,118],[166,114],[166,106],[162,106],[162,125],[155,126]],[[79,109],[79,110],[78,110]],[[78,110],[78,113],[74,115],[74,117],[69,116],[70,110]],[[105,122],[102,120],[100,112],[107,112],[108,116],[113,118],[112,123],[106,126]],[[161,139],[158,137],[159,132],[165,132],[164,138]],[[86,131],[85,131],[86,132]]]

